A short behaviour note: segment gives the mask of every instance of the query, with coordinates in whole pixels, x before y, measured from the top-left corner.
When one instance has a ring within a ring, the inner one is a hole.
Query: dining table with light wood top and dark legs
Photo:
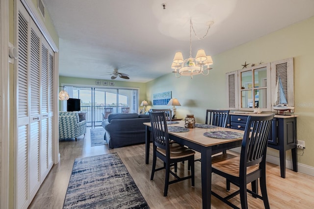
[[[178,121],[178,124],[168,124],[167,126],[184,127],[185,121]],[[149,163],[149,151],[151,142],[151,123],[145,125],[145,163]],[[179,144],[185,145],[201,153],[201,176],[202,176],[202,202],[203,209],[210,209],[211,200],[211,155],[222,152],[226,149],[241,146],[242,137],[236,139],[216,139],[204,136],[206,132],[227,131],[244,134],[244,131],[230,128],[191,128],[188,132],[169,132],[169,138]]]

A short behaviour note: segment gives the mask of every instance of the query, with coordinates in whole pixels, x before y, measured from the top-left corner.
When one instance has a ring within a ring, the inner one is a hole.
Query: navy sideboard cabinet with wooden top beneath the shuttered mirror
[[[256,114],[230,113],[227,127],[244,130],[247,117]],[[261,114],[262,115],[262,114]],[[291,149],[293,171],[297,172],[297,148],[296,148],[296,117],[275,115],[268,137],[268,147],[279,150],[280,176],[286,178],[286,151]]]

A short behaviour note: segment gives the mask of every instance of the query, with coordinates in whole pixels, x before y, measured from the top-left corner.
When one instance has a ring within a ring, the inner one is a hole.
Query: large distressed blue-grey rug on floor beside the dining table
[[[149,209],[116,153],[75,159],[63,209]]]

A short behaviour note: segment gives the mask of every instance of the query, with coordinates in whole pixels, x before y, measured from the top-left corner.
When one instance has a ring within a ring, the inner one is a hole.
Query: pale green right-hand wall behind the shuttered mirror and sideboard
[[[154,93],[172,91],[172,97],[178,98],[182,105],[177,107],[177,117],[194,114],[197,122],[204,122],[206,109],[227,108],[226,72],[242,69],[241,65],[245,61],[258,64],[261,61],[269,63],[293,57],[297,139],[305,140],[306,143],[303,155],[302,150],[298,150],[298,163],[314,166],[313,37],[314,17],[212,56],[214,64],[208,76],[176,78],[173,73],[169,73],[148,82],[146,98],[152,104]],[[155,108],[165,107],[167,106]],[[279,157],[279,151],[271,148],[268,149],[268,154]],[[291,159],[289,151],[287,158]]]

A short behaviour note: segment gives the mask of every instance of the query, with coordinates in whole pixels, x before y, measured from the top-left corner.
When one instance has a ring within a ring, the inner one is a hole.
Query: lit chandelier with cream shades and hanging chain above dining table
[[[173,62],[171,65],[171,68],[174,69],[174,73],[176,73],[176,77],[179,78],[181,75],[184,76],[191,76],[191,79],[193,78],[193,75],[197,74],[203,74],[208,75],[210,68],[209,66],[213,64],[211,56],[206,55],[204,49],[199,49],[196,53],[196,57],[192,57],[192,29],[195,34],[195,36],[201,40],[204,39],[209,31],[210,26],[213,24],[213,22],[209,23],[209,27],[207,29],[206,34],[200,38],[196,35],[195,30],[193,28],[192,20],[190,20],[190,57],[187,59],[183,59],[183,55],[181,51],[177,51],[175,54],[175,57],[173,58]],[[207,70],[207,73],[205,74],[205,70]]]

